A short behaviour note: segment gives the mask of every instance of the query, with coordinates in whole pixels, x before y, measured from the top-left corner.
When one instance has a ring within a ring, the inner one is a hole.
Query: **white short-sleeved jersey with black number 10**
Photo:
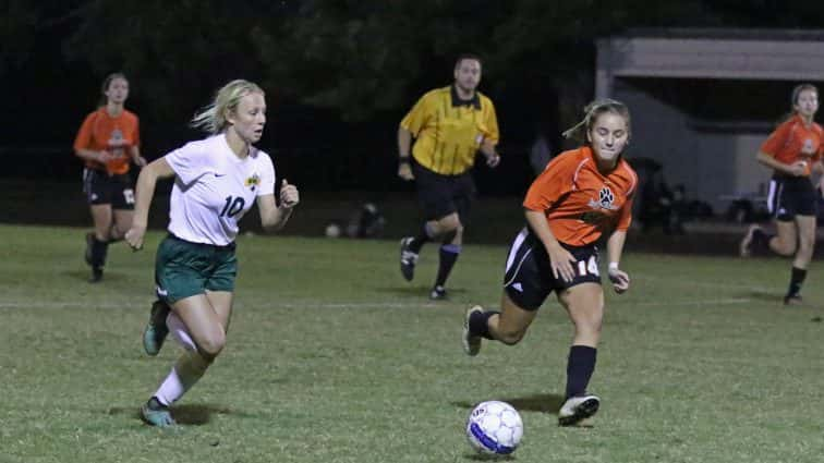
[[[275,193],[269,155],[252,147],[241,159],[223,134],[187,143],[166,161],[177,174],[168,230],[192,243],[230,244],[256,197]]]

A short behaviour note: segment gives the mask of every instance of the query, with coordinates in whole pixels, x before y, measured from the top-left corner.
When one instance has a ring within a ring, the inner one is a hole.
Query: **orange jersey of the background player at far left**
[[[140,122],[137,115],[126,111],[112,118],[106,107],[92,112],[83,121],[77,137],[74,138],[74,149],[107,150],[113,159],[104,166],[100,162],[86,161],[86,167],[106,170],[111,174],[129,172],[132,159],[131,148],[141,145]]]

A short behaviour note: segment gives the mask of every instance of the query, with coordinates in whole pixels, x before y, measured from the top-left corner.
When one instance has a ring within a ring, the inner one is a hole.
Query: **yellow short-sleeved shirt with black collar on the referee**
[[[481,144],[497,145],[500,137],[492,100],[478,92],[473,99],[461,100],[451,85],[421,97],[401,126],[415,137],[415,161],[444,175],[465,172]]]

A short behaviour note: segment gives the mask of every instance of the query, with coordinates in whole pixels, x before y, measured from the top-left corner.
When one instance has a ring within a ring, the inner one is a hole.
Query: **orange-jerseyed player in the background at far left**
[[[102,83],[100,107],[89,113],[74,139],[74,154],[85,161],[83,192],[86,194],[95,231],[86,234],[86,264],[92,282],[100,281],[109,243],[123,237],[132,226],[134,187],[130,162],[146,166],[141,156],[137,115],[123,105],[129,81],[121,73]]]

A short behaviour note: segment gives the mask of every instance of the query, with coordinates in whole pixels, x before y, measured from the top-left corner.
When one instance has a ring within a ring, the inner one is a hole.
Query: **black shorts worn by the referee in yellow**
[[[412,163],[412,171],[415,174],[417,200],[426,220],[439,220],[458,212],[461,223],[466,223],[475,197],[475,182],[471,172],[444,175],[416,162]]]

